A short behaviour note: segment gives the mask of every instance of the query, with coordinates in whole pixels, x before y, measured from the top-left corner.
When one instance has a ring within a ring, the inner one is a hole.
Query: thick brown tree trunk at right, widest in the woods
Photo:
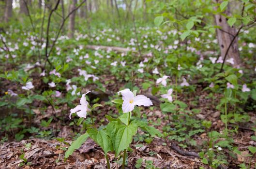
[[[214,0],[217,3],[221,3],[221,0]],[[226,15],[230,16],[230,6],[229,4],[226,7],[226,11],[224,12]],[[232,42],[234,36],[236,35],[237,31],[234,26],[230,27],[227,24],[227,19],[225,16],[221,14],[216,14],[215,16],[215,22],[217,26],[220,26],[221,29],[217,28],[217,39],[219,42],[220,50],[221,50],[221,57],[224,59],[226,55],[226,51],[228,50],[228,46]],[[239,56],[239,50],[238,50],[238,37],[235,38],[233,43],[231,44],[226,60],[228,58],[233,58],[234,59],[234,65],[233,66],[239,66],[241,64],[241,58]]]

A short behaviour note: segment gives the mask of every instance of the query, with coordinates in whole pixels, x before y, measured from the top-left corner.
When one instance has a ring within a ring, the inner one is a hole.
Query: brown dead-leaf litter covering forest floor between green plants
[[[105,78],[114,79],[114,77]],[[117,84],[115,83],[108,84],[107,89],[109,91],[112,90],[112,92],[117,92],[116,85]],[[195,97],[178,96],[179,100],[188,104],[189,109],[201,109],[201,112],[196,114],[194,118],[210,120],[212,122],[212,127],[209,131],[215,130],[222,132],[225,129],[225,124],[219,119],[220,112],[212,111],[214,109],[211,108],[211,99],[205,99],[207,93],[202,91],[201,87],[197,87],[196,90],[197,91],[195,93],[199,97],[199,105],[196,105],[196,107],[190,105],[190,102],[193,101]],[[104,105],[104,101],[101,103]],[[157,119],[161,119],[161,124],[157,126],[157,128],[162,132],[163,126],[169,122],[164,120],[166,119],[166,114],[161,113],[159,105],[155,104],[155,106],[158,106],[158,108],[155,108],[153,111],[145,109],[145,112],[147,113],[148,120],[150,121],[156,122]],[[102,110],[102,113],[96,116],[96,124],[97,122],[102,122],[102,119],[105,116],[104,113],[107,112],[110,107],[106,105],[100,109]],[[68,111],[69,110],[67,109],[67,112]],[[47,117],[61,116],[58,114],[58,111],[56,113],[57,114],[54,114],[49,106],[45,115],[37,114],[32,122],[36,125],[37,123],[40,123],[42,119]],[[248,114],[251,116],[250,121],[254,123],[256,121],[256,114]],[[104,158],[104,152],[91,139],[82,144],[82,146],[76,150],[73,155],[64,161],[64,150],[68,148],[69,144],[72,142],[72,133],[74,133],[75,130],[79,132],[79,129],[75,129],[74,126],[68,125],[70,121],[67,116],[68,115],[66,115],[62,125],[60,121],[55,121],[52,122],[49,127],[53,129],[56,138],[65,138],[61,141],[58,139],[48,140],[44,138],[32,138],[23,141],[8,141],[2,143],[0,146],[0,169],[105,169],[106,161]],[[102,123],[104,124],[105,122]],[[248,150],[243,151],[249,145],[256,146],[256,142],[251,141],[250,139],[250,136],[255,135],[255,132],[250,128],[247,128],[246,125],[246,123],[243,123],[243,126],[239,126],[237,130],[238,133],[233,136],[233,145],[237,146],[238,149],[242,151],[243,155],[249,153]],[[61,129],[57,130],[56,128]],[[232,126],[229,126],[229,128],[231,129]],[[140,130],[138,132],[142,133]],[[199,135],[194,135],[193,139],[196,141],[197,145],[201,145],[203,141],[209,142],[209,137],[207,135],[207,131],[205,131]],[[159,169],[198,169],[199,167],[209,169],[208,165],[201,162],[198,156],[198,153],[201,150],[198,149],[197,146],[186,147],[183,149],[178,144],[179,143],[177,141],[158,137],[155,137],[149,144],[134,141],[131,144],[133,151],[128,153],[129,165],[127,166],[127,169],[135,169],[136,160],[139,158],[147,161],[153,161],[153,165]],[[223,154],[227,156],[229,155],[228,149],[223,149],[222,151]],[[24,155],[23,159],[20,158],[20,155],[22,154]],[[115,160],[116,158],[114,159],[114,154],[111,153],[109,154],[109,157],[112,167],[114,169],[119,169],[121,166],[121,160]],[[238,160],[234,161],[234,158],[228,157],[227,161],[229,162],[229,166],[221,167],[224,169],[239,169],[238,164],[248,164],[250,161],[249,157],[241,155],[238,155],[237,159]],[[252,158],[251,166],[254,166],[255,162],[256,156]],[[21,163],[25,165],[18,167]],[[145,167],[145,164],[142,164],[142,167]]]

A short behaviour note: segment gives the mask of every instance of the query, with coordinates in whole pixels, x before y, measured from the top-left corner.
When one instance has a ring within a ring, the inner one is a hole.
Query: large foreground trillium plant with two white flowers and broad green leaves
[[[114,153],[115,157],[122,157],[122,169],[125,167],[125,161],[127,157],[127,150],[133,137],[136,135],[138,127],[145,132],[149,132],[151,136],[162,137],[162,134],[155,129],[154,127],[148,126],[147,122],[144,122],[140,119],[139,116],[134,115],[132,117],[133,111],[139,111],[137,106],[151,106],[153,105],[152,101],[144,95],[137,95],[136,90],[130,91],[130,89],[124,89],[118,92],[118,95],[122,96],[122,99],[114,99],[113,103],[116,103],[119,108],[120,116],[118,118],[113,118],[109,115],[105,115],[109,123],[105,127],[96,128],[92,116],[92,111],[101,104],[94,104],[90,107],[89,102],[86,100],[86,95],[89,92],[82,95],[80,99],[80,104],[77,105],[74,109],[70,110],[70,118],[74,113],[77,114],[80,119],[78,120],[78,125],[80,125],[84,118],[87,117],[87,113],[90,112],[90,119],[92,126],[87,127],[86,133],[82,134],[77,138],[76,141],[73,141],[68,150],[65,153],[65,158],[68,158],[69,155],[72,155],[75,149],[78,149],[83,142],[88,138],[91,138],[95,141],[104,151],[106,164],[108,169],[111,169],[110,161],[108,159],[108,153]],[[121,108],[120,108],[121,107]],[[136,113],[134,113],[136,114]]]

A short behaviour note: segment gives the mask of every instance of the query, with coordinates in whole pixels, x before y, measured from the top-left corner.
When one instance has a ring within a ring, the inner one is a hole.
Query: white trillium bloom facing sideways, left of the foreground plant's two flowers
[[[77,105],[74,109],[70,110],[69,118],[71,119],[71,114],[76,113],[78,117],[84,117],[86,118],[87,111],[90,111],[88,108],[88,101],[85,98],[85,95],[87,95],[90,91],[82,95],[82,98],[80,99],[80,105]]]

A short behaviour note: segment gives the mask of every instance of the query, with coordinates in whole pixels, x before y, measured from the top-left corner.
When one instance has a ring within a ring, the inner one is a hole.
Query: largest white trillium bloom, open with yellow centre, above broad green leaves
[[[123,103],[122,103],[122,111],[123,113],[132,112],[134,110],[134,106],[150,106],[153,105],[152,101],[144,95],[134,96],[133,92],[130,89],[124,89],[118,92],[118,94],[122,95]]]

